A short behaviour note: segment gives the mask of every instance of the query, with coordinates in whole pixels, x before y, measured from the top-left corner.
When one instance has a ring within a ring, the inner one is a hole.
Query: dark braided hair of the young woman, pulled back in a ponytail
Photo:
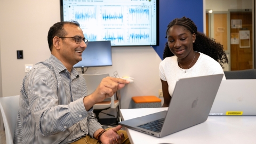
[[[174,25],[182,26],[183,28],[190,31],[191,34],[196,34],[196,41],[193,43],[194,51],[204,53],[213,58],[215,61],[218,61],[222,68],[224,63],[228,63],[228,57],[225,51],[223,51],[223,45],[215,42],[215,39],[206,37],[205,34],[197,31],[197,27],[191,19],[183,17],[180,19],[177,18],[172,20],[167,26],[166,35],[169,32],[169,29]],[[167,36],[165,36],[165,38],[167,38]],[[174,54],[171,52],[168,43],[166,42],[163,59],[166,57],[172,57],[173,55]]]

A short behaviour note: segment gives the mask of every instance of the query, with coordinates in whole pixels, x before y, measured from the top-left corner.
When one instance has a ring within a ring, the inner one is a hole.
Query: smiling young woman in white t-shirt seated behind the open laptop
[[[223,45],[197,31],[189,18],[174,19],[166,30],[167,43],[159,65],[164,104],[168,107],[176,82],[180,78],[224,74],[223,63],[228,63]],[[223,79],[226,79],[225,75]]]

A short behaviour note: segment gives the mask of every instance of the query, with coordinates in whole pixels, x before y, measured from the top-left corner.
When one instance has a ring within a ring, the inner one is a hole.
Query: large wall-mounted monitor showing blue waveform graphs
[[[89,42],[157,45],[158,0],[60,0],[60,9],[61,21],[78,21]]]

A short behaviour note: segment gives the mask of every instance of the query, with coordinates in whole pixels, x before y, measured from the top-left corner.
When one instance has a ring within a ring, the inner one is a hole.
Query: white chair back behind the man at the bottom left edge
[[[0,109],[4,121],[6,144],[13,144],[20,95],[0,98]]]

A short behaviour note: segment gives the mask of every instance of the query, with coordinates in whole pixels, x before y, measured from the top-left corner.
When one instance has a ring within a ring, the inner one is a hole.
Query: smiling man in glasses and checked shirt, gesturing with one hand
[[[14,143],[129,143],[121,125],[105,131],[92,111],[129,81],[106,77],[87,95],[85,79],[73,67],[87,43],[76,21],[50,28],[51,57],[36,63],[21,85]]]

